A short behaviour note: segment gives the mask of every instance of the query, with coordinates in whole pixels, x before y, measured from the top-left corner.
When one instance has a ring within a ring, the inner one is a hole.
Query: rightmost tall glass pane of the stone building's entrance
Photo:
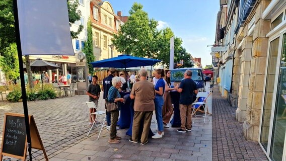
[[[286,130],[286,34],[283,35],[270,158],[282,160]]]

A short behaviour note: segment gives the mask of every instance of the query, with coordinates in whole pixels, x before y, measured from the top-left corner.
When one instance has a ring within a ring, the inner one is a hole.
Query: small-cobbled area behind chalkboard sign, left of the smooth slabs
[[[58,98],[28,102],[29,115],[33,115],[48,157],[73,146],[89,130],[87,96]],[[0,102],[0,129],[6,112],[24,113],[23,103]],[[1,132],[0,143],[3,133]],[[0,146],[1,147],[1,146]],[[43,158],[41,150],[33,149],[33,157]]]

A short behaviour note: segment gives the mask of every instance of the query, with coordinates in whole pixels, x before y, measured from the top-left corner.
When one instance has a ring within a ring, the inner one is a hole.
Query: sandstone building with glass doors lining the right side
[[[286,1],[220,2],[218,19],[225,22],[216,29],[222,38],[216,45],[227,46],[220,68],[232,59],[226,69],[232,70],[228,99],[237,107],[236,119],[269,160],[286,160]]]

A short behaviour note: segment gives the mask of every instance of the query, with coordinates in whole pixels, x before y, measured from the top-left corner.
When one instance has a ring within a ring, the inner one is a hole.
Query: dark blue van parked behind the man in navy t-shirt
[[[171,70],[171,85],[176,86],[184,79],[184,72],[189,69],[192,71],[192,79],[197,84],[198,92],[205,92],[203,74],[201,68],[178,68]]]

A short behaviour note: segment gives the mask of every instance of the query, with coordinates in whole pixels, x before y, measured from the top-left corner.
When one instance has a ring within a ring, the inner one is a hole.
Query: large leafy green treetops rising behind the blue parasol
[[[114,34],[112,43],[119,52],[126,54],[150,57],[162,60],[161,63],[169,67],[170,38],[174,36],[171,28],[158,30],[158,22],[149,19],[142,10],[143,6],[134,3],[131,7],[128,21],[123,24],[117,34]],[[184,59],[186,66],[192,66],[190,55],[182,48],[182,39],[174,38],[174,62]]]

